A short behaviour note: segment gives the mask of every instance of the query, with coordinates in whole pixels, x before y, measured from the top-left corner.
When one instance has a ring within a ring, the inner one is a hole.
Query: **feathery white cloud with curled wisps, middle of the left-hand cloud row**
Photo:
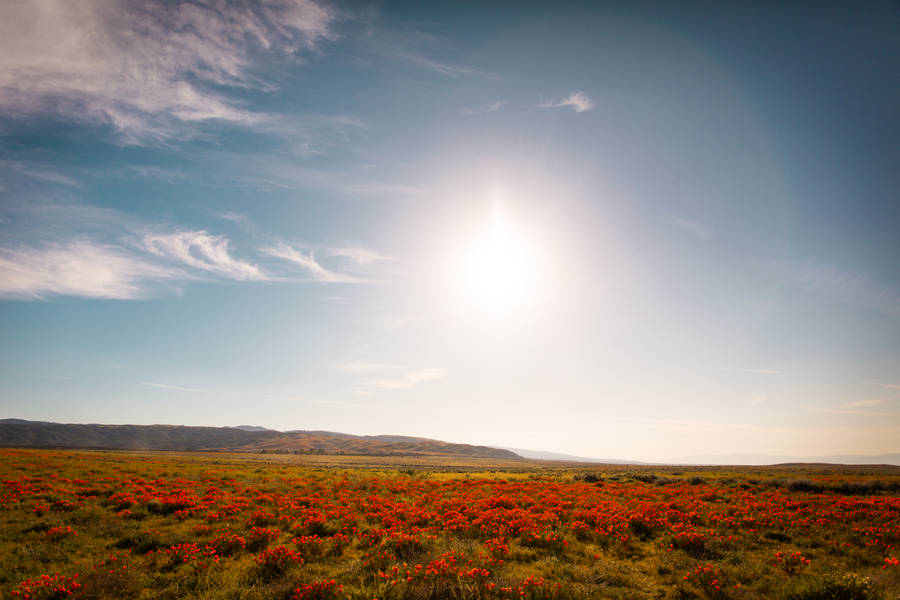
[[[231,256],[228,238],[205,231],[148,233],[144,248],[157,256],[180,261],[189,267],[229,279],[265,281],[269,277],[256,265]]]

